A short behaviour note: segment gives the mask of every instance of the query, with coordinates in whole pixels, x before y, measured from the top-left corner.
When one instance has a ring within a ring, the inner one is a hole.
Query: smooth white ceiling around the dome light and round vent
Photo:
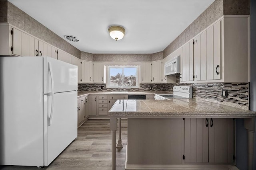
[[[9,0],[64,39],[88,53],[163,51],[214,0]],[[126,29],[115,41],[110,25]]]

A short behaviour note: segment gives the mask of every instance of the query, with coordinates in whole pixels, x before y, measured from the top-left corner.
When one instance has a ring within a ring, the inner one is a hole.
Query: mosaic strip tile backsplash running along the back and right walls
[[[174,85],[184,85],[193,87],[193,98],[200,98],[210,102],[216,102],[228,106],[249,109],[249,83],[180,83],[180,79],[176,76],[176,84],[140,84],[140,88],[123,89],[127,91],[167,91],[173,92]],[[101,89],[104,86],[104,90]],[[152,90],[150,90],[150,86]],[[228,90],[228,98],[222,97],[222,89]],[[118,91],[118,89],[108,88],[106,84],[78,84],[79,91]]]

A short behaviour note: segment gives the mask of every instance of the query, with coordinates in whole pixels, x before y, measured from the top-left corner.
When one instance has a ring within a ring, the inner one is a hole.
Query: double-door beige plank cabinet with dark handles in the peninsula
[[[233,119],[184,119],[185,163],[234,163]]]

